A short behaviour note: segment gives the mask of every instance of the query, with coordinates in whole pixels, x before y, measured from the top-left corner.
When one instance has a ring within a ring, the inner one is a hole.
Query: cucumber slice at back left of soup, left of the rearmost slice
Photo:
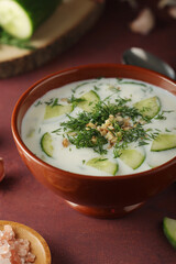
[[[64,113],[70,113],[72,111],[73,111],[73,106],[72,105],[54,106],[54,107],[46,106],[44,119],[56,118],[56,117],[59,117]]]

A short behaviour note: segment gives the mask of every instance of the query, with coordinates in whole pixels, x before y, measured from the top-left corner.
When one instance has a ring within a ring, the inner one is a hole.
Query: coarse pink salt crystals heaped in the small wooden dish
[[[0,264],[31,264],[35,255],[30,252],[30,242],[16,239],[11,226],[0,231]]]

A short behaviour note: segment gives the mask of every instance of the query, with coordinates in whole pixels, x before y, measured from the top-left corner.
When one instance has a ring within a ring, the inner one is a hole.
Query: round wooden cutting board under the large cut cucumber
[[[0,78],[15,76],[47,63],[75,44],[103,10],[94,0],[65,0],[34,33],[30,44],[35,50],[0,46]]]

